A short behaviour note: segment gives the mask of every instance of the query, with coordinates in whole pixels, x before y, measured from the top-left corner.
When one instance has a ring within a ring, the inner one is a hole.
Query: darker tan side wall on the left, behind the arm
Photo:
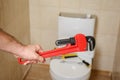
[[[28,0],[0,0],[0,28],[25,44],[30,42],[28,10]],[[21,80],[26,68],[0,51],[0,80]]]

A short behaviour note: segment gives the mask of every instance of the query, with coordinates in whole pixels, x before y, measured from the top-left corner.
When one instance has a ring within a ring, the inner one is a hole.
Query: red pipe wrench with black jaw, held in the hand
[[[60,55],[68,54],[72,52],[87,51],[88,43],[89,43],[90,51],[94,50],[94,47],[95,47],[94,37],[92,36],[86,37],[83,34],[76,34],[74,37],[71,37],[69,39],[57,40],[55,43],[57,46],[60,46],[60,45],[66,45],[66,46],[62,48],[57,48],[54,50],[40,52],[38,54],[42,56],[43,58],[49,58],[49,57],[60,56]],[[28,60],[23,61],[22,58],[18,58],[18,62],[20,64],[24,64],[26,61]]]

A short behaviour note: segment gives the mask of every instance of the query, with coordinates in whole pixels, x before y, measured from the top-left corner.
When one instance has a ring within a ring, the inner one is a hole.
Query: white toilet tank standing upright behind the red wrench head
[[[91,14],[60,13],[58,18],[58,39],[64,39],[82,33],[94,36],[96,17]],[[78,56],[92,62],[94,51],[79,52]]]

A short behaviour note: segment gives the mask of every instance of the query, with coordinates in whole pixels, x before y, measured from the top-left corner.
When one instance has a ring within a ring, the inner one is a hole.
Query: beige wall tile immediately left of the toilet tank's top
[[[40,7],[37,9],[30,9],[30,12],[31,27],[43,29],[57,27],[55,24],[57,24],[58,21],[58,8]]]

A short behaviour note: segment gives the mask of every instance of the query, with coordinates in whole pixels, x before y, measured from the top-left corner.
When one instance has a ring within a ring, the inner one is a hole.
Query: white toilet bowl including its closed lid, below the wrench
[[[91,67],[78,57],[66,60],[53,59],[50,63],[52,80],[89,80]]]

